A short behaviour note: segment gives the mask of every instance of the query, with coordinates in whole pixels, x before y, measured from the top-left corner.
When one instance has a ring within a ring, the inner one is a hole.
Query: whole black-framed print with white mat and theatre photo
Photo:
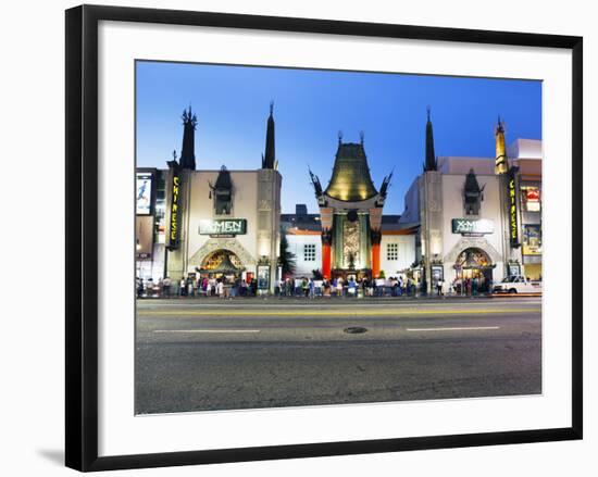
[[[66,465],[582,438],[582,38],[66,11]]]

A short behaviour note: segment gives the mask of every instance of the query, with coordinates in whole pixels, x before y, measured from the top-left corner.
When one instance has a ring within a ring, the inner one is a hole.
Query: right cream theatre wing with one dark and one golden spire
[[[504,277],[541,280],[541,141],[509,148],[499,120],[496,158],[426,158],[404,199],[403,225],[418,226],[415,275],[428,290],[476,278],[481,291]]]

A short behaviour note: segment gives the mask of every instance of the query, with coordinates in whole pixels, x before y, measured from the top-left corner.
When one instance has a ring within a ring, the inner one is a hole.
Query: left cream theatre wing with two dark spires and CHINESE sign
[[[229,171],[196,170],[195,130],[191,110],[183,114],[180,156],[167,170],[154,170],[161,179],[162,197],[150,196],[151,255],[137,253],[137,273],[153,280],[169,276],[215,277],[226,281],[256,279],[258,289],[274,289],[279,250],[282,176],[277,171],[274,117],[271,106],[266,147],[260,168]],[[138,176],[138,204],[140,174]],[[142,177],[141,177],[142,178]],[[155,181],[154,184],[159,184]],[[138,205],[139,212],[139,205]],[[137,230],[145,216],[137,214]],[[140,236],[137,236],[139,243]],[[148,239],[149,240],[149,239]],[[160,242],[162,247],[157,247]],[[151,262],[151,265],[149,264]]]

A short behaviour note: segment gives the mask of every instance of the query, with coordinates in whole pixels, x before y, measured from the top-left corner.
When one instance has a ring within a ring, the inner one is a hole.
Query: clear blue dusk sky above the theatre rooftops
[[[494,127],[504,120],[507,142],[541,139],[541,81],[420,76],[189,63],[137,62],[137,166],[165,168],[180,153],[180,115],[197,114],[198,170],[261,167],[270,102],[283,212],[317,206],[308,166],[323,187],[338,143],[364,146],[376,188],[395,174],[384,208],[400,214],[403,196],[422,172],[426,108],[436,155],[495,156]]]

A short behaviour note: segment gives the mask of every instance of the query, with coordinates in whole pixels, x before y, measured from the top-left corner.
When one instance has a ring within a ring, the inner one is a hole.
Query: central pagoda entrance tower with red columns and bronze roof
[[[342,142],[339,134],[326,190],[310,171],[320,206],[324,277],[379,275],[382,211],[391,175],[378,191],[370,175],[363,134],[360,142]]]

